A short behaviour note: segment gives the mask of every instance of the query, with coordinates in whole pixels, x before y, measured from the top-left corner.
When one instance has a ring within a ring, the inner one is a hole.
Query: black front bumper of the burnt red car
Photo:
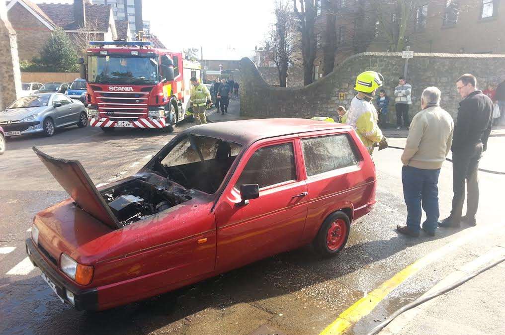
[[[95,288],[80,289],[78,286],[69,283],[61,274],[58,273],[47,261],[40,255],[40,252],[31,238],[27,238],[26,252],[34,266],[38,267],[56,286],[56,294],[72,306],[72,303],[67,299],[67,291],[74,294],[74,307],[79,311],[95,311],[98,310],[98,291]]]

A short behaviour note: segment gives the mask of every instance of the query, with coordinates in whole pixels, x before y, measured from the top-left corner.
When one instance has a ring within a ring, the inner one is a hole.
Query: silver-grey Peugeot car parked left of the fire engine
[[[0,126],[6,136],[42,132],[53,136],[56,128],[88,124],[84,105],[62,93],[32,94],[0,112]]]

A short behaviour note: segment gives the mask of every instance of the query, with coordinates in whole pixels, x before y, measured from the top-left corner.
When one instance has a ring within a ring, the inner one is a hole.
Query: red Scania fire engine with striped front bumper
[[[118,127],[173,131],[185,117],[190,81],[201,65],[181,52],[155,49],[145,41],[92,41],[87,69],[89,125],[112,131]]]

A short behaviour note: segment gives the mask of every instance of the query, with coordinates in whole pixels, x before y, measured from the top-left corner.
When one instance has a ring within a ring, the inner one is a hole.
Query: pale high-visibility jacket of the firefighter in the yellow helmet
[[[352,99],[345,123],[356,130],[370,155],[374,151],[374,143],[384,138],[377,125],[378,119],[379,114],[371,102],[358,99],[358,97]]]

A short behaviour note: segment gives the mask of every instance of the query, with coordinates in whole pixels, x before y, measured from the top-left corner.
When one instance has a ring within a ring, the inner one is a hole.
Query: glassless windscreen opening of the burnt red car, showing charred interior
[[[240,150],[238,143],[188,134],[150,169],[184,188],[214,194]]]

